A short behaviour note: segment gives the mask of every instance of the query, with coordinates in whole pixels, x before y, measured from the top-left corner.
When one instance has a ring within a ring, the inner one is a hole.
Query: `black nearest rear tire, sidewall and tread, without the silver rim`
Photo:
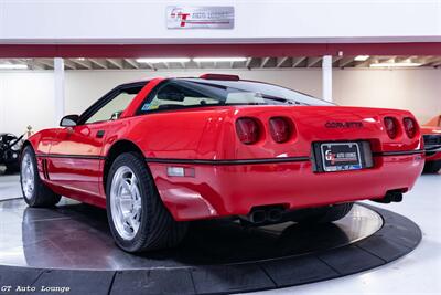
[[[128,167],[138,179],[141,197],[140,225],[130,240],[123,239],[116,229],[110,204],[114,176],[120,167]],[[137,152],[125,152],[112,162],[106,185],[107,218],[111,234],[122,250],[137,253],[176,246],[185,236],[186,222],[176,222],[162,203],[154,180],[143,158]]]

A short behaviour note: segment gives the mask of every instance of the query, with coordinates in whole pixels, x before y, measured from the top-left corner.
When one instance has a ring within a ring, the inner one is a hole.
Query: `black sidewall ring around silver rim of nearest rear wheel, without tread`
[[[149,228],[149,215],[151,214],[151,198],[149,194],[149,171],[147,167],[144,169],[140,169],[138,165],[136,165],[136,161],[139,161],[139,157],[137,157],[133,154],[122,154],[117,159],[114,161],[114,164],[110,167],[109,173],[108,173],[108,181],[106,183],[106,208],[107,208],[107,219],[108,223],[110,226],[110,232],[116,241],[116,243],[125,251],[127,252],[137,252],[140,247],[142,247],[144,241],[148,239],[150,228]],[[139,183],[139,191],[140,191],[140,198],[141,198],[141,222],[138,229],[137,234],[131,239],[131,240],[126,240],[121,238],[115,228],[114,220],[112,220],[112,212],[111,212],[111,206],[110,206],[110,189],[111,189],[111,183],[114,181],[114,176],[115,172],[118,170],[119,167],[121,166],[127,166],[129,167],[136,177],[138,178],[138,183]]]

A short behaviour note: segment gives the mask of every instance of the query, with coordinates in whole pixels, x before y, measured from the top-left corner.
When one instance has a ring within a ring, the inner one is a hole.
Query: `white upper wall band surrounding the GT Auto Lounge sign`
[[[234,30],[168,30],[166,6],[234,6]],[[439,41],[438,0],[1,0],[2,43]]]

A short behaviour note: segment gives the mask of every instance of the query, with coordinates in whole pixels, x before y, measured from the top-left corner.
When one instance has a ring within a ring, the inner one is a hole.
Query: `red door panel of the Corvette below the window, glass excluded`
[[[47,159],[52,182],[84,197],[101,194],[100,165],[106,124],[65,127],[58,131]]]

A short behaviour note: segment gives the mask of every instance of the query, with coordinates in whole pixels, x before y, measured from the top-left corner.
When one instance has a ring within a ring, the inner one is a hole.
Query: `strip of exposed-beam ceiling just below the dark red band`
[[[358,61],[357,56],[333,56],[333,67],[370,67],[374,63],[402,63],[412,62],[423,67],[438,67],[441,56],[366,56],[367,60]],[[53,59],[0,59],[0,64],[23,64],[30,70],[53,70]],[[240,62],[160,62],[140,63],[136,59],[64,59],[67,71],[76,70],[176,70],[176,69],[308,69],[321,67],[322,57],[310,56],[267,56],[247,57]]]

